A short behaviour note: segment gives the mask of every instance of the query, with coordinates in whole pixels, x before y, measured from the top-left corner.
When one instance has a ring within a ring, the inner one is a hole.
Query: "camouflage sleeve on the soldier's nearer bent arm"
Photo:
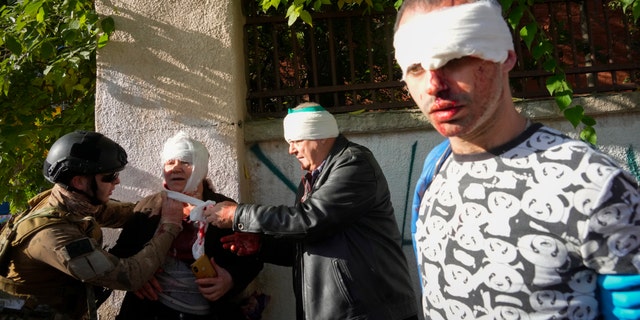
[[[116,290],[137,290],[160,267],[182,227],[164,223],[153,238],[130,258],[119,259],[100,248],[73,225],[55,225],[38,232],[26,251],[76,279]]]

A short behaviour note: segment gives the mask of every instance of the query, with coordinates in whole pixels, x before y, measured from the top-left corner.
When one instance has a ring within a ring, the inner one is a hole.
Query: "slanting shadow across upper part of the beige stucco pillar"
[[[123,104],[159,111],[147,111],[150,119],[145,122],[153,122],[154,116],[165,120],[169,113],[176,122],[191,127],[236,125],[232,116],[221,116],[235,114],[227,104],[228,97],[233,95],[230,79],[235,72],[232,70],[234,64],[229,62],[234,57],[229,53],[229,44],[215,37],[229,31],[219,25],[214,27],[199,22],[215,19],[231,25],[233,17],[214,16],[216,11],[213,9],[175,6],[174,2],[159,2],[154,8],[131,9],[108,0],[102,3],[96,7],[106,11],[101,14],[113,16],[116,32],[107,46],[98,51],[98,56],[104,57],[97,59],[101,69],[98,80],[106,85],[114,98]],[[168,5],[174,6],[169,8]],[[184,28],[176,25],[184,25]],[[194,26],[201,29],[195,30]],[[228,38],[228,35],[223,34],[220,38]],[[101,105],[98,101],[96,109]],[[130,121],[139,121],[135,115],[131,116]]]

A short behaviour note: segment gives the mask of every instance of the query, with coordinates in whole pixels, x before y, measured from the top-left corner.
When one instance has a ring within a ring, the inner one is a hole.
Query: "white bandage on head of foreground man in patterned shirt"
[[[436,70],[465,56],[502,63],[513,40],[500,7],[478,1],[411,17],[396,31],[393,46],[404,78],[414,64]]]

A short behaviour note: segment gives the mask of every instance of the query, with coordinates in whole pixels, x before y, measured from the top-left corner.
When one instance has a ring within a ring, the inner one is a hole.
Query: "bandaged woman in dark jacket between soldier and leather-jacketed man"
[[[184,205],[182,231],[176,237],[165,263],[143,289],[128,292],[117,319],[227,319],[241,316],[236,295],[254,279],[262,263],[238,257],[220,245],[230,230],[208,226],[193,218],[198,205],[233,201],[216,193],[207,179],[209,152],[204,144],[178,132],[167,139],[161,153],[163,186],[167,196]],[[111,252],[126,256],[136,252],[156,230],[157,198],[160,193],[141,200],[134,219],[124,226]],[[191,264],[206,255],[217,276],[196,279]],[[161,291],[158,291],[158,288]]]

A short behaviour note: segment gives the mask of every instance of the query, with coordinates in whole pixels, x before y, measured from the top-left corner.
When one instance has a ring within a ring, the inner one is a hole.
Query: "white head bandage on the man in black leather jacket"
[[[335,138],[339,133],[336,118],[319,105],[289,109],[289,114],[284,117],[284,139],[287,142]]]

